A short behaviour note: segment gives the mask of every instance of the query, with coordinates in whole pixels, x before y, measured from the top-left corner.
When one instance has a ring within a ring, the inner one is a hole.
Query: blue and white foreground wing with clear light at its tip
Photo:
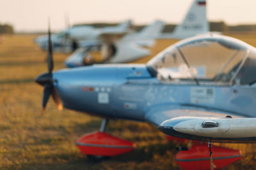
[[[179,106],[157,106],[145,120],[170,136],[223,143],[255,143],[256,118]]]

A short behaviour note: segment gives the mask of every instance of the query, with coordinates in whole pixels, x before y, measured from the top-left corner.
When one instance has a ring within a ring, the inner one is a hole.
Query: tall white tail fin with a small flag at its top
[[[206,16],[206,0],[194,0],[186,17],[177,25],[172,33],[163,33],[159,38],[184,39],[209,32]]]

